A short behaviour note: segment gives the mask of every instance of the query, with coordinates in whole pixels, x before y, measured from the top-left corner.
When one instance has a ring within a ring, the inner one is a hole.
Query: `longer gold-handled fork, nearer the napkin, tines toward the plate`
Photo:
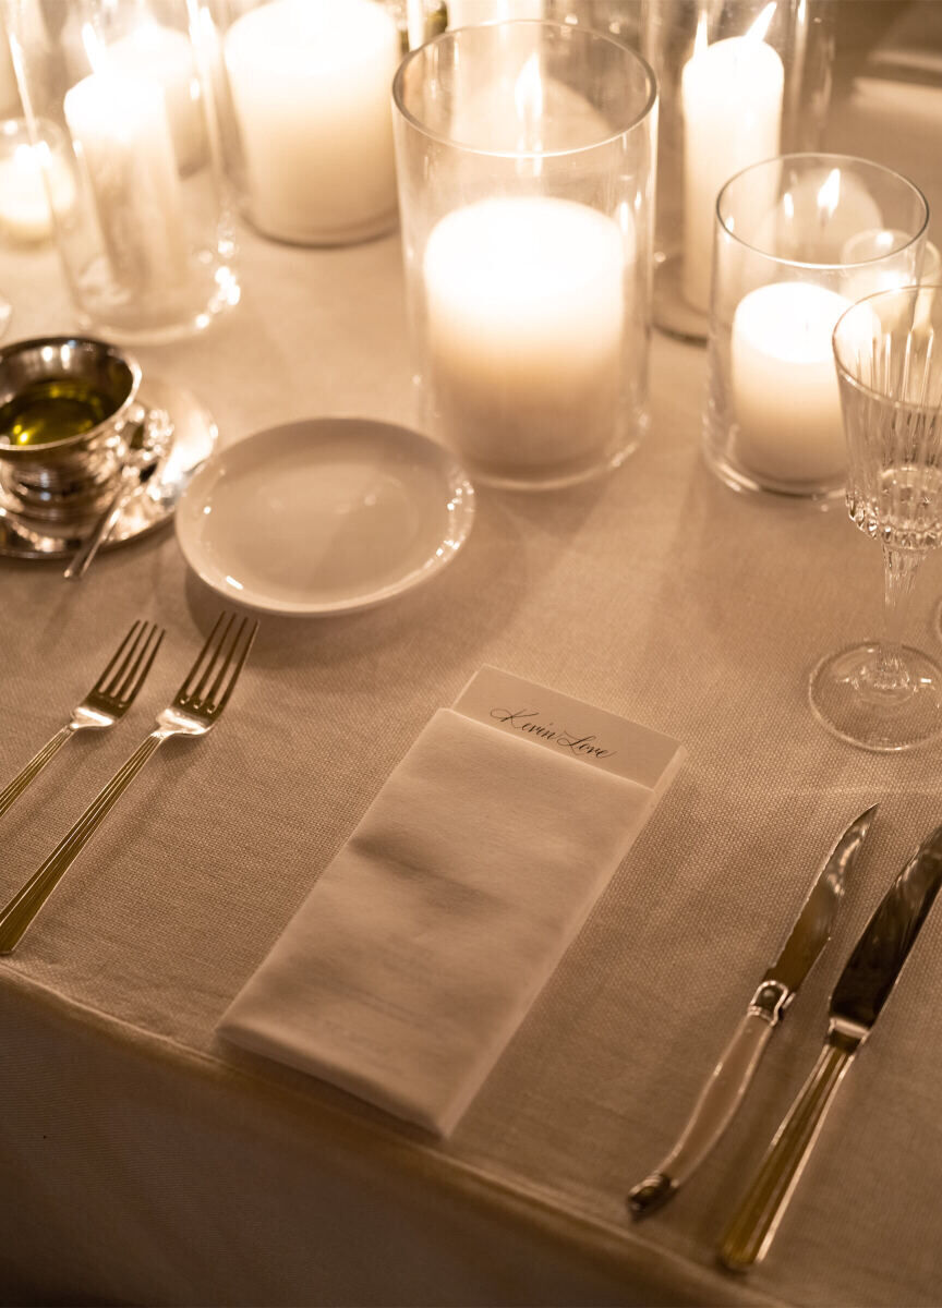
[[[170,736],[201,736],[216,725],[229,702],[242,671],[258,623],[234,613],[220,613],[199,658],[187,672],[177,696],[157,714],[153,731],[94,799],[72,831],[56,845],[38,872],[0,912],[0,954],[12,954],[34,917],[56,888],[72,859],[92,838],[120,794],[148,759]]]

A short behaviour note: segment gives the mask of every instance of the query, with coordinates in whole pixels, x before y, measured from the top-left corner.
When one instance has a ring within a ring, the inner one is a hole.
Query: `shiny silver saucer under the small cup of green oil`
[[[144,378],[139,399],[147,408],[166,409],[173,422],[173,442],[162,466],[122,509],[103,549],[136,540],[169,522],[190,477],[209,456],[218,434],[212,413],[181,386]],[[20,501],[0,485],[0,555],[9,559],[67,559],[94,523],[94,517],[75,522],[30,518]]]

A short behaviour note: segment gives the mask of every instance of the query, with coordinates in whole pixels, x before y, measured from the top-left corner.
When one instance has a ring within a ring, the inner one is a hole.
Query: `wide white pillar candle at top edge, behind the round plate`
[[[395,213],[399,33],[374,0],[273,0],[225,37],[249,204],[285,241],[373,235]]]

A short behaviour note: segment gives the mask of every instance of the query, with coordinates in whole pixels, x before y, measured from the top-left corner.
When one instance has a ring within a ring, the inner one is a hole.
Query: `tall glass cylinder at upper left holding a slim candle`
[[[5,10],[78,320],[128,341],[198,331],[239,294],[195,7],[156,13],[137,0],[84,0],[56,22],[37,0]]]

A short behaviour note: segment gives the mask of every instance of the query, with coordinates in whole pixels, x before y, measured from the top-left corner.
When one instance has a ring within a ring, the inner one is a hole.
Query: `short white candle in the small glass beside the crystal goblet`
[[[850,305],[809,283],[751,290],[733,318],[735,453],[750,472],[814,485],[846,467],[831,336]]]

